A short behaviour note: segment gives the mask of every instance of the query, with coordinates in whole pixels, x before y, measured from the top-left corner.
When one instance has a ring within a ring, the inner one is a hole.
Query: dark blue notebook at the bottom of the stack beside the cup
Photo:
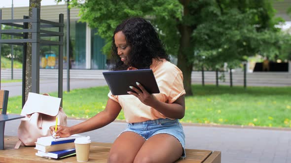
[[[42,152],[42,151],[37,151],[36,156],[40,157],[48,157],[48,158],[53,158],[53,159],[61,159],[66,156],[72,156],[76,154],[76,149],[67,149],[67,150],[62,150],[62,151],[53,151],[53,152]]]

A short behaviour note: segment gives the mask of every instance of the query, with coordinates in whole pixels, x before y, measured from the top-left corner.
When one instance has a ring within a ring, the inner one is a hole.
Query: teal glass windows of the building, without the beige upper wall
[[[88,30],[90,31],[88,32]],[[97,29],[87,27],[86,23],[71,21],[69,50],[71,69],[107,69],[107,57],[102,52],[105,40],[95,34],[96,32]],[[64,28],[64,34],[64,68],[67,68],[66,26]],[[49,39],[54,40],[57,38],[51,37]],[[41,46],[40,68],[58,68],[58,55],[58,46]]]

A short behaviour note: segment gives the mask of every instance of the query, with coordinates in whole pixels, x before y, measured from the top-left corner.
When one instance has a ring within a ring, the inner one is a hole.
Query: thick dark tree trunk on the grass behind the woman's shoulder
[[[183,5],[183,17],[189,15],[189,0],[180,0]],[[183,72],[183,84],[186,96],[193,95],[191,88],[191,73],[193,68],[193,45],[191,45],[191,35],[193,27],[185,25],[183,22],[178,27],[181,33],[180,47],[178,51],[178,67]]]

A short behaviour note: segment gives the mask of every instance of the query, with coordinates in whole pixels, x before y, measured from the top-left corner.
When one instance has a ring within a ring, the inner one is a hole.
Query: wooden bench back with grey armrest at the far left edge
[[[8,103],[8,90],[0,90],[0,150],[4,148],[4,129],[5,122],[11,121],[14,119],[24,118],[22,115],[11,115],[6,114],[7,112],[7,103]]]

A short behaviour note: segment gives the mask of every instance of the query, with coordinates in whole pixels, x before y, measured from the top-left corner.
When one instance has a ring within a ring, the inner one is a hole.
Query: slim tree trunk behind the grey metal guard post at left
[[[29,19],[32,19],[33,8],[40,8],[41,0],[29,0]],[[32,24],[28,24],[28,28],[32,28]],[[28,33],[28,39],[32,38],[32,33]],[[38,52],[39,53],[39,52]],[[27,43],[26,51],[26,71],[25,71],[25,101],[27,100],[28,93],[32,88],[32,44]]]

